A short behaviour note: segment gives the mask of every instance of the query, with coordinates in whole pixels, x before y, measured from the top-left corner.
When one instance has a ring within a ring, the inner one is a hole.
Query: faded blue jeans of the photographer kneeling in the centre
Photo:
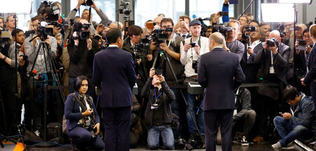
[[[159,147],[159,136],[162,135],[162,144],[165,150],[172,150],[174,145],[173,132],[170,126],[152,125],[148,131],[147,143],[150,150],[157,150]]]

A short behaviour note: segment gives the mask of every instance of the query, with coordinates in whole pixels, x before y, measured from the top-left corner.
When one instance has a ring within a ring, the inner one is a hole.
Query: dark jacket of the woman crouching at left
[[[78,97],[78,92],[74,92],[74,95]],[[90,100],[92,100],[91,96],[88,96]],[[92,103],[93,107],[93,113],[94,117],[96,119],[96,124],[100,123],[100,117],[98,115],[98,112],[96,110],[96,107],[94,106],[94,103]],[[82,112],[79,108],[79,103],[77,100],[74,100],[74,97],[72,94],[68,94],[67,100],[65,102],[65,117],[67,119],[67,130],[70,131],[74,129],[74,127],[78,124],[79,120],[82,119]]]

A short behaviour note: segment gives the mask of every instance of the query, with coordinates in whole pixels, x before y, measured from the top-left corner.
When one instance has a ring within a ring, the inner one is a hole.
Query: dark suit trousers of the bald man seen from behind
[[[216,150],[218,124],[222,138],[222,150],[232,150],[232,114],[234,110],[204,110],[206,150]],[[217,123],[218,122],[218,123]]]

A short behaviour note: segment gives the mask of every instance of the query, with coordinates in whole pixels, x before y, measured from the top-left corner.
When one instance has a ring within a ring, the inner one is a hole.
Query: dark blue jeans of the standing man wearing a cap
[[[192,112],[193,118],[195,118],[195,95],[191,95],[190,93],[185,92],[185,100],[187,100],[187,105],[189,105],[190,110]],[[197,112],[197,126],[199,127],[199,132],[204,135],[204,114],[203,114],[203,100],[197,100],[199,110]],[[187,115],[187,126],[189,128],[190,133],[197,133],[197,127],[195,127],[195,123],[192,120],[190,112],[186,109]]]

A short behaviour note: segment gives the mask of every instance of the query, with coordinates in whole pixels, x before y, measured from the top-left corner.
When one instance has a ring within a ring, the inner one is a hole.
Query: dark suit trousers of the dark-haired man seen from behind
[[[129,150],[131,107],[107,107],[103,108],[102,111],[105,129],[105,150]]]

